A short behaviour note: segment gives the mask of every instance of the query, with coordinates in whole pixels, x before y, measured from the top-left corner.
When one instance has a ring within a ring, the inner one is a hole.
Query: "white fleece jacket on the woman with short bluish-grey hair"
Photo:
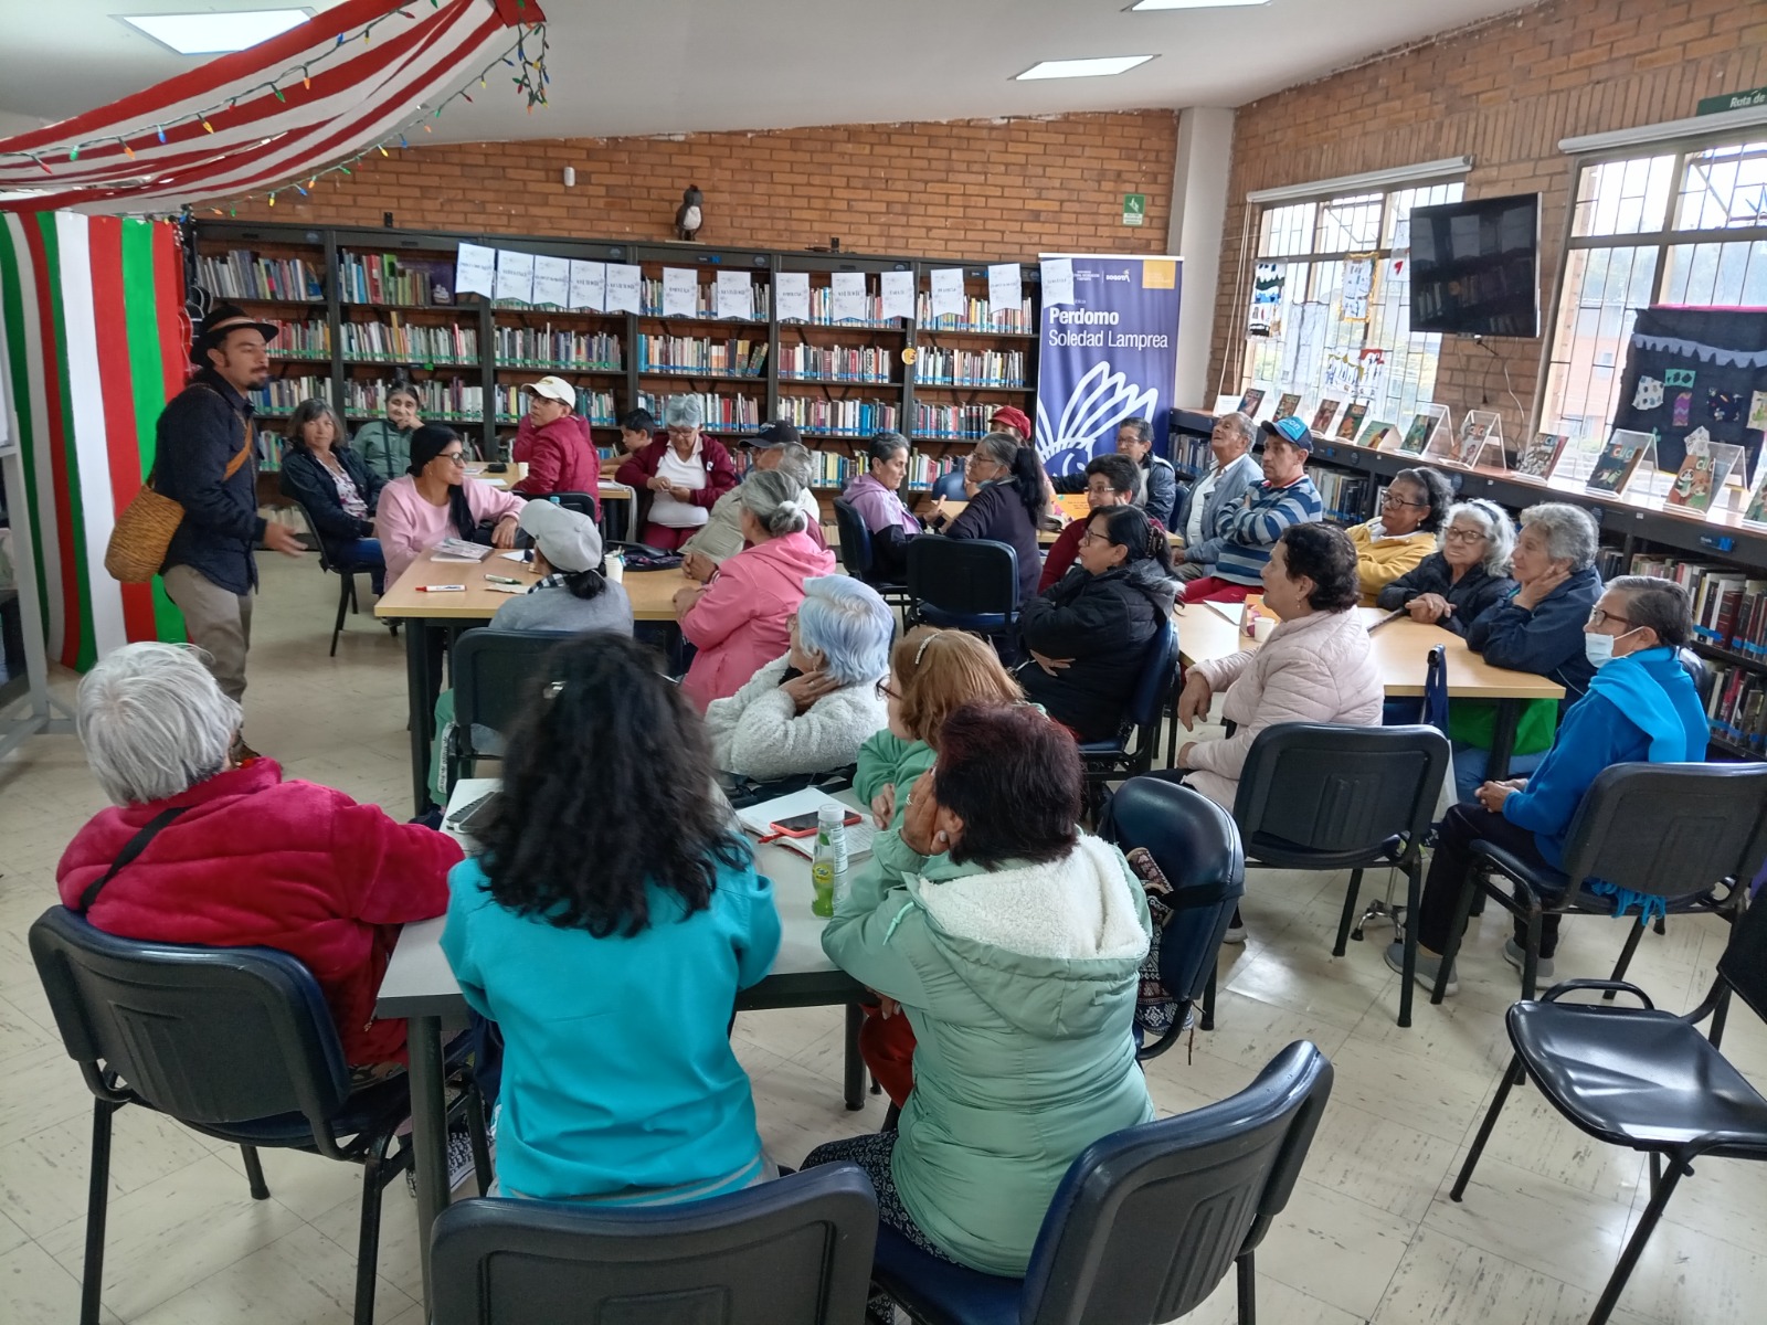
[[[889,726],[889,710],[871,680],[823,694],[797,714],[792,696],[779,689],[788,659],[776,657],[740,691],[707,705],[712,758],[724,772],[770,783],[845,768],[868,737]]]

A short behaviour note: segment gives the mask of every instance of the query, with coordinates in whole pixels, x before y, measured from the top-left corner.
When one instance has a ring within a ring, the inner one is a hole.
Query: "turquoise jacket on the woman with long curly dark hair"
[[[677,894],[650,889],[634,938],[518,915],[484,885],[477,860],[449,873],[442,950],[504,1032],[498,1184],[569,1200],[758,1171],[755,1101],[726,1028],[737,991],[779,950],[772,880],[753,862],[719,866],[710,908],[687,917]]]

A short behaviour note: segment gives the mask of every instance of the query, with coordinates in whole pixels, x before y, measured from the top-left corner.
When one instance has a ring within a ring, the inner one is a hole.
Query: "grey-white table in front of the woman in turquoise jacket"
[[[454,784],[444,814],[447,832],[468,853],[477,844],[447,825],[447,814],[468,806],[500,784],[497,777],[463,777]],[[843,800],[857,807],[852,793]],[[864,1064],[859,1058],[857,998],[862,986],[839,970],[822,950],[822,928],[811,913],[809,860],[779,844],[755,848],[755,867],[774,885],[779,908],[779,952],[767,977],[737,995],[735,1011],[769,1007],[846,1005],[846,1108],[864,1108]],[[376,1018],[406,1019],[412,1078],[412,1150],[417,1170],[417,1246],[424,1267],[424,1306],[429,1307],[429,1228],[449,1201],[447,1127],[442,1094],[442,1023],[465,1025],[466,996],[459,991],[447,958],[442,956],[444,917],[415,920],[399,933],[375,1002]]]

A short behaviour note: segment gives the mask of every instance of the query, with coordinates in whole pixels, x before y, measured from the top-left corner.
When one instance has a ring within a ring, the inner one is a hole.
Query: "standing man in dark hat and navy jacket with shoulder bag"
[[[235,304],[209,309],[191,346],[200,373],[173,396],[154,426],[154,489],[184,507],[161,576],[184,613],[189,641],[230,700],[246,694],[253,546],[299,556],[306,546],[286,525],[258,518],[256,429],[246,392],[270,376],[267,344],[276,327]]]

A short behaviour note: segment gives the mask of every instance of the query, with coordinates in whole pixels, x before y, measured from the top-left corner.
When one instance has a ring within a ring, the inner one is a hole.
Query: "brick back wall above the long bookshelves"
[[[237,207],[260,221],[378,226],[392,212],[412,230],[661,240],[696,184],[707,244],[795,249],[838,235],[855,253],[935,258],[1163,253],[1175,148],[1170,110],[413,145],[322,178],[309,198],[284,189],[276,207],[262,194]],[[1147,194],[1138,230],[1122,224],[1126,193]]]

